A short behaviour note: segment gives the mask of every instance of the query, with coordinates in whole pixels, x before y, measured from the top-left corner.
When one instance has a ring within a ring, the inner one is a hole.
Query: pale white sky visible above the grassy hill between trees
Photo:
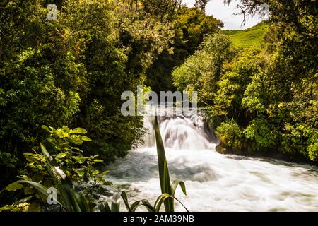
[[[187,4],[188,7],[192,7],[194,2],[195,0],[182,0],[182,3]],[[241,26],[243,16],[233,15],[233,13],[240,12],[240,9],[237,8],[237,4],[239,3],[240,0],[234,0],[228,6],[223,4],[223,0],[211,0],[206,6],[206,13],[222,20],[224,23],[223,29],[225,30],[244,30],[261,22],[259,16],[254,16],[253,18],[247,18],[246,25]]]

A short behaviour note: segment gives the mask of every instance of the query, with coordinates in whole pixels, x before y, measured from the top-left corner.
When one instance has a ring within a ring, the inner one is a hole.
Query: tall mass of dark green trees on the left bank
[[[25,150],[45,136],[42,124],[77,125],[88,129],[93,141],[85,146],[105,163],[124,157],[141,138],[143,120],[122,116],[120,95],[143,85],[169,48],[172,15],[160,20],[165,7],[155,1],[136,1],[134,9],[127,1],[50,3],[57,21],[47,20],[41,0],[0,7],[0,150],[22,168]]]

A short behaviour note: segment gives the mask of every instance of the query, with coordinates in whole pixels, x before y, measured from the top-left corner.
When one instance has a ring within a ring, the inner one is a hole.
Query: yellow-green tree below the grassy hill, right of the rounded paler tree
[[[216,126],[228,118],[240,124],[249,120],[246,109],[242,107],[242,99],[252,77],[261,71],[261,59],[257,57],[259,53],[258,49],[241,51],[231,63],[225,64],[223,75],[217,82],[218,90],[213,97],[213,105],[208,107]]]

